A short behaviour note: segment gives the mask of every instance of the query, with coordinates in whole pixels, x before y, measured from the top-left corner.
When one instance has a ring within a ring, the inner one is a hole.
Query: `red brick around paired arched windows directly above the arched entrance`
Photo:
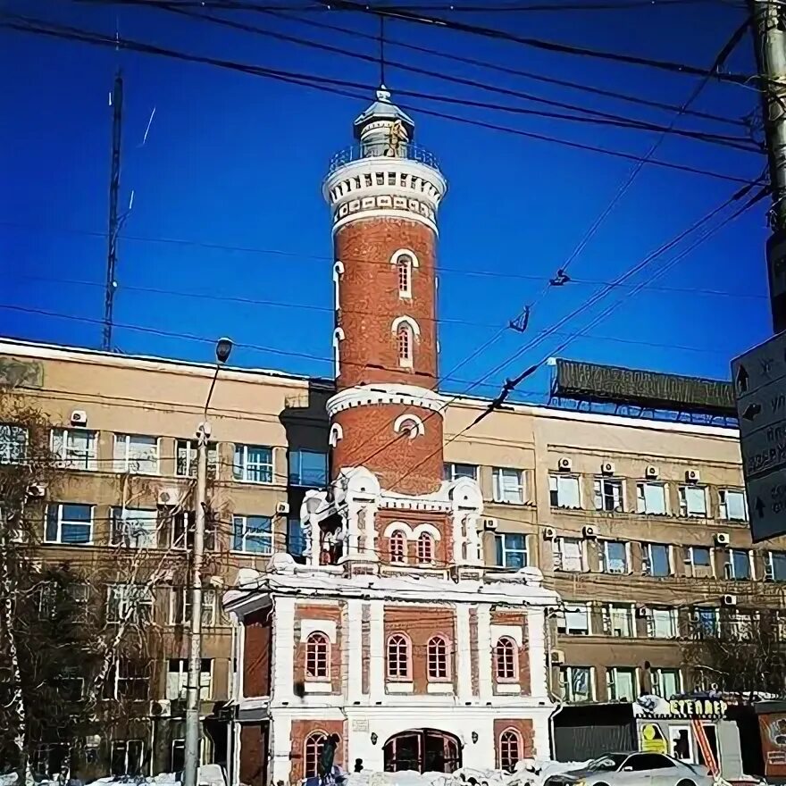
[[[393,633],[406,633],[412,641],[414,693],[427,693],[429,686],[428,643],[441,633],[450,643],[450,675],[456,690],[456,615],[439,606],[385,606],[385,679],[387,645]]]

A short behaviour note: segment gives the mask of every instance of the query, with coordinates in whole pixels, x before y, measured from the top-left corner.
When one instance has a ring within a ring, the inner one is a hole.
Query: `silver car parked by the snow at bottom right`
[[[544,786],[712,786],[707,767],[661,753],[607,753],[581,770],[551,775]]]

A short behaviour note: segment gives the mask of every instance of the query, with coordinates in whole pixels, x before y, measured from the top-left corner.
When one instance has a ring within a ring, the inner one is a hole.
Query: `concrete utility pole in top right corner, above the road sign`
[[[762,93],[773,207],[767,269],[773,330],[786,330],[786,14],[782,0],[748,0]]]

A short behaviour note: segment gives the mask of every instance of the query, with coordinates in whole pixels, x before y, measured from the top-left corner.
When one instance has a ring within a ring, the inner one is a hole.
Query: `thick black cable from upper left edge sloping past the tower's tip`
[[[187,62],[202,63],[206,65],[213,65],[220,68],[226,68],[231,71],[239,71],[253,76],[276,79],[279,81],[286,82],[288,84],[296,84],[304,88],[311,88],[311,89],[319,90],[322,92],[328,92],[339,96],[347,96],[353,98],[354,100],[363,99],[363,96],[360,96],[356,93],[349,93],[346,90],[342,90],[340,88],[328,87],[329,84],[333,84],[333,83],[346,84],[347,80],[326,79],[326,78],[319,77],[318,79],[321,80],[321,83],[314,83],[314,79],[317,79],[316,77],[314,77],[314,75],[293,74],[292,72],[288,72],[288,71],[276,71],[272,69],[263,68],[261,66],[253,66],[244,63],[234,63],[232,61],[226,61],[213,57],[204,57],[196,54],[187,54],[171,49],[163,49],[158,46],[140,44],[138,42],[130,41],[130,39],[128,38],[116,38],[116,37],[110,38],[102,34],[93,33],[91,31],[64,27],[62,25],[53,25],[52,23],[46,21],[30,20],[25,17],[20,17],[19,15],[4,14],[4,16],[6,18],[10,18],[13,16],[13,18],[15,19],[20,19],[21,22],[4,21],[0,23],[0,26],[8,29],[15,29],[17,31],[24,32],[24,33],[29,33],[33,35],[42,35],[50,38],[63,38],[65,40],[79,41],[80,43],[93,44],[96,46],[113,46],[115,48],[121,47],[121,48],[129,49],[130,51],[141,52],[144,54],[156,54],[164,57],[172,57]],[[326,84],[322,84],[322,83],[326,83]],[[355,83],[349,83],[349,84],[351,86],[354,85]],[[366,86],[364,86],[364,88],[366,88]],[[550,144],[558,144],[562,146],[571,147],[576,150],[602,153],[604,155],[611,155],[616,158],[621,158],[623,160],[628,160],[628,161],[641,160],[641,157],[639,155],[624,153],[623,151],[609,149],[606,147],[599,147],[586,143],[574,142],[568,139],[550,137],[546,134],[539,134],[532,131],[525,131],[522,129],[514,129],[508,126],[501,126],[496,123],[472,120],[471,118],[462,117],[455,114],[435,112],[433,110],[425,109],[423,107],[418,107],[418,106],[412,106],[406,104],[401,104],[400,106],[404,109],[409,109],[416,113],[428,114],[434,117],[438,117],[441,120],[451,120],[451,121],[456,121],[456,122],[461,122],[468,125],[476,126],[478,128],[503,131],[505,133],[514,134],[516,136],[521,136],[524,138],[537,139],[539,141],[548,142]],[[654,166],[659,166],[674,171],[684,171],[684,172],[690,172],[692,174],[703,174],[703,175],[707,175],[708,177],[714,177],[719,180],[728,180],[734,183],[748,183],[748,180],[745,178],[735,177],[733,175],[727,175],[724,174],[723,172],[700,169],[698,167],[691,166],[690,164],[665,162],[657,159],[650,159],[649,163],[651,163]]]

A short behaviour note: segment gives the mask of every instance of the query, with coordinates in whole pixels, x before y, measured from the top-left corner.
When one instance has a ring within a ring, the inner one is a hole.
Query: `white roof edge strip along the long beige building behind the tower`
[[[63,347],[57,344],[3,337],[0,337],[0,355],[16,355],[39,358],[42,360],[61,360],[75,363],[97,363],[116,368],[138,368],[146,371],[185,372],[200,377],[212,376],[215,368],[213,364],[197,363],[188,360],[175,360],[156,355],[119,355],[113,352],[105,352],[100,349]],[[254,379],[267,378],[280,385],[302,387],[304,384],[314,384],[325,390],[330,390],[335,387],[333,380],[325,379],[324,377],[311,377],[306,374],[293,374],[277,371],[275,369],[227,366],[222,369],[222,377],[224,379],[234,379],[238,381],[252,381]],[[489,398],[452,396],[449,393],[443,395],[447,397],[451,404],[470,407],[472,409],[485,409],[489,406],[490,401]],[[500,412],[522,414],[530,417],[561,419],[564,421],[594,422],[606,425],[626,426],[627,428],[643,429],[647,431],[668,431],[672,433],[695,434],[697,436],[714,436],[724,439],[739,439],[740,436],[739,430],[726,426],[663,420],[658,421],[647,418],[633,418],[619,414],[578,412],[576,410],[538,404],[506,404]]]

